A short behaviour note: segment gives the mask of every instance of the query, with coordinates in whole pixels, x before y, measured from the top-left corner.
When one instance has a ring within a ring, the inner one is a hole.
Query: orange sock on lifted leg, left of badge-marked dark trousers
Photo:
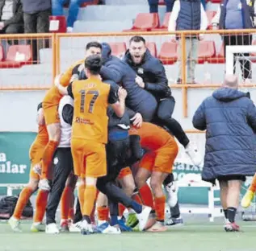
[[[50,171],[50,164],[52,163],[53,154],[58,146],[59,142],[50,140],[44,148],[44,154],[42,158],[42,175],[41,179],[48,179]]]

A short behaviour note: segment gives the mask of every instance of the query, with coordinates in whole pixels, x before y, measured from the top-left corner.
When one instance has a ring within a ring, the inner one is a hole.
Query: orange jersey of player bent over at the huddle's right
[[[132,127],[129,134],[139,135],[141,137],[141,147],[145,150],[157,150],[172,139],[166,130],[148,122],[143,122],[139,129]]]

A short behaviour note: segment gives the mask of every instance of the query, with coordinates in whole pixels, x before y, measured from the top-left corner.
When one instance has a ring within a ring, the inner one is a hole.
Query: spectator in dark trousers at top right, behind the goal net
[[[241,30],[255,27],[256,1],[254,0],[223,0],[219,9],[212,19],[214,29],[219,25],[220,30]],[[251,45],[252,35],[243,33],[241,35],[224,35],[224,52],[227,45]],[[226,53],[224,53],[226,56]],[[250,56],[243,53],[240,56]],[[236,61],[234,61],[234,72]],[[242,78],[244,82],[249,82],[252,78],[250,60],[240,60]]]

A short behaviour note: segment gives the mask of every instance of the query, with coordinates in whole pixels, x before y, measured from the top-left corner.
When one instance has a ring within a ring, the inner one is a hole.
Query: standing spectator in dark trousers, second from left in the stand
[[[25,33],[48,33],[49,17],[52,14],[51,0],[22,0],[23,2],[23,19]],[[31,39],[33,63],[38,63],[38,50],[48,47],[48,39],[40,39],[39,47],[37,39]]]

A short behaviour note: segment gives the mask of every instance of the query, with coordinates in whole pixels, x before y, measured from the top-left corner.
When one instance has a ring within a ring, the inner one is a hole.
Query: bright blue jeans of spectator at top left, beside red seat
[[[52,0],[52,15],[63,15],[63,6],[69,3],[67,26],[73,27],[73,23],[78,18],[78,11],[82,2],[91,2],[91,0]]]

